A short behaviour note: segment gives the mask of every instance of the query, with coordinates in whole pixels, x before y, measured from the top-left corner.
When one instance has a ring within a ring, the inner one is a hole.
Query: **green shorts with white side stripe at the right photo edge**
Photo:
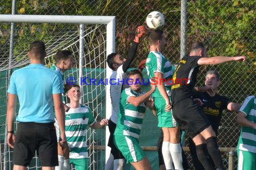
[[[256,170],[256,153],[237,150],[237,170]]]

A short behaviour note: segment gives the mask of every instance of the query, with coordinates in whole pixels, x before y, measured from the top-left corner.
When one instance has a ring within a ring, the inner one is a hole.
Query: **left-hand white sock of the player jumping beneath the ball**
[[[163,141],[162,145],[162,154],[163,154],[163,161],[167,170],[174,170],[172,166],[172,155],[169,150],[170,142]]]

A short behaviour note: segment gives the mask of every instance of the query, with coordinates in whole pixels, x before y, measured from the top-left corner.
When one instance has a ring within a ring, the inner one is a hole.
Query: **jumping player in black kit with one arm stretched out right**
[[[190,55],[183,57],[173,75],[175,85],[172,85],[172,112],[181,130],[185,130],[195,145],[197,156],[206,170],[213,170],[206,156],[207,150],[218,170],[224,170],[221,155],[216,142],[216,134],[212,129],[203,109],[192,99],[200,65],[221,64],[229,61],[246,61],[245,56],[237,57],[206,57],[206,47],[203,43],[193,43]]]

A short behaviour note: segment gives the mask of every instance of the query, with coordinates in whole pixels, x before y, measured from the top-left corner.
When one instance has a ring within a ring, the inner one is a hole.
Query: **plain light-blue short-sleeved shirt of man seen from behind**
[[[19,122],[50,123],[54,121],[53,94],[63,88],[57,72],[43,64],[30,64],[13,72],[8,93],[17,94]]]

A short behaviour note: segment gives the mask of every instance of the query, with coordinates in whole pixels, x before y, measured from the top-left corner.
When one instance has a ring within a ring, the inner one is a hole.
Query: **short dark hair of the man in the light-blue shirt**
[[[35,56],[40,55],[40,59],[44,59],[44,57],[46,56],[45,45],[43,41],[33,41],[30,44],[29,51],[32,54],[35,54]]]

